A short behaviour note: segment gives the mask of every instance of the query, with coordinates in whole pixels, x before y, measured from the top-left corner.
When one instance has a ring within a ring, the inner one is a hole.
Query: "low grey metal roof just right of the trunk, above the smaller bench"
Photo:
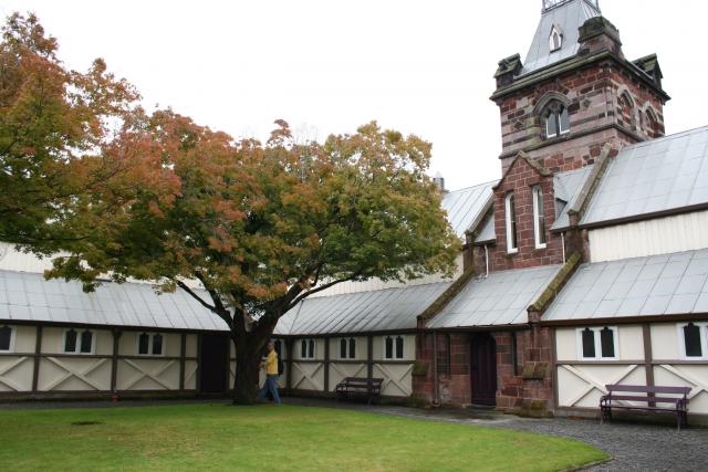
[[[450,283],[305,298],[278,322],[279,335],[413,329]]]

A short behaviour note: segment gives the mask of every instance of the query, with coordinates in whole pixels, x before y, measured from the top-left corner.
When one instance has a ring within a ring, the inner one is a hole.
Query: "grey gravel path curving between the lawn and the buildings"
[[[220,399],[155,400],[155,401],[80,401],[0,403],[0,410],[54,408],[143,407],[180,403],[214,403]],[[492,428],[555,434],[576,439],[606,451],[612,460],[591,471],[705,471],[708,470],[708,429],[689,428],[680,433],[666,424],[645,424],[627,421],[600,424],[595,420],[563,418],[529,419],[502,415],[492,410],[437,409],[425,410],[398,406],[361,405],[331,400],[292,398],[288,405],[343,408],[378,415],[395,415],[430,421],[482,424]]]

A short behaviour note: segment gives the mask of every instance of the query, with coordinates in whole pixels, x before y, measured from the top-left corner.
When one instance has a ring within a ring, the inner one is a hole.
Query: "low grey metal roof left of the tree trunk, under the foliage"
[[[13,271],[0,271],[0,319],[228,329],[223,321],[180,290],[158,295],[148,284],[106,282],[95,292],[84,293],[79,282],[46,281],[42,274]]]

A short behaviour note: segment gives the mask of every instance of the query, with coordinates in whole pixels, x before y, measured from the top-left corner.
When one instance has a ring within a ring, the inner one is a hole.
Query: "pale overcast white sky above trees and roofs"
[[[627,59],[658,54],[667,134],[708,125],[706,2],[600,6]],[[279,118],[317,140],[375,119],[433,143],[430,175],[459,189],[500,177],[493,74],[525,56],[541,0],[0,0],[13,11],[39,15],[67,67],[105,59],[148,109],[259,139]]]

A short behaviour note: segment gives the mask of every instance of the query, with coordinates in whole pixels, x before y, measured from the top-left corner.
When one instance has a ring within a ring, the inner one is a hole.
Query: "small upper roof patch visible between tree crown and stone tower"
[[[491,204],[492,187],[499,180],[480,183],[461,190],[455,190],[442,196],[442,209],[455,233],[465,239],[465,231],[477,221]]]

